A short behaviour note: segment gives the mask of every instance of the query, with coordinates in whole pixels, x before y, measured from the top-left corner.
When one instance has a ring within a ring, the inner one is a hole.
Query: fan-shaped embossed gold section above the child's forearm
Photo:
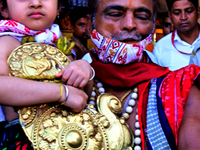
[[[27,43],[15,49],[7,62],[11,76],[48,79],[67,66],[70,60],[52,46]]]

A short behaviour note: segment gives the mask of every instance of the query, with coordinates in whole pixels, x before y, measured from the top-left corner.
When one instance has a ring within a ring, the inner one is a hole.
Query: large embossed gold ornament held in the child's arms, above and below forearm
[[[57,48],[26,43],[8,58],[10,75],[44,82],[55,78],[70,60]],[[133,134],[115,113],[122,109],[119,99],[102,94],[98,110],[92,105],[80,113],[59,103],[19,108],[19,119],[35,150],[132,150]]]

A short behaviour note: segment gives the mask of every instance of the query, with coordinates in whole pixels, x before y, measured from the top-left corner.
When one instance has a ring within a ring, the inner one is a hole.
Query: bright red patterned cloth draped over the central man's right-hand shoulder
[[[184,114],[183,107],[189,96],[190,88],[199,73],[199,66],[189,65],[170,72],[162,82],[160,96],[176,142]]]

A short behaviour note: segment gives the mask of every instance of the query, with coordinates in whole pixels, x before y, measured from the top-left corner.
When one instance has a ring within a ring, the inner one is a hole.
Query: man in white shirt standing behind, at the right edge
[[[158,65],[177,70],[189,65],[195,45],[200,42],[198,0],[167,0],[169,16],[176,30],[160,39],[153,50]]]

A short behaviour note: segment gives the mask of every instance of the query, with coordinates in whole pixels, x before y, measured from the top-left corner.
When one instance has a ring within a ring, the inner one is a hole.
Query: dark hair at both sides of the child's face
[[[1,10],[4,10],[7,8],[7,0],[0,0],[1,2]],[[60,19],[65,17],[65,14],[68,12],[68,1],[67,0],[58,0],[58,7],[61,6],[61,13],[59,15]]]

